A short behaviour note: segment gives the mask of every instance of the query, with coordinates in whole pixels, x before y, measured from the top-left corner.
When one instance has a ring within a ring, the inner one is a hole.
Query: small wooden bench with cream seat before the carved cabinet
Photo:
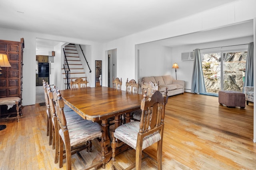
[[[7,105],[7,107],[8,107],[7,109],[10,109],[14,105],[16,105],[16,111],[17,111],[16,117],[10,117],[11,116],[11,113],[10,113],[6,118],[3,118],[3,119],[17,118],[18,122],[20,121],[19,102],[20,102],[19,97],[0,98],[0,105]],[[0,109],[0,111],[1,111],[1,109]]]

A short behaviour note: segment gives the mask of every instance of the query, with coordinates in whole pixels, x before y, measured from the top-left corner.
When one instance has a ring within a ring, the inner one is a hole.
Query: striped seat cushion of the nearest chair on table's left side
[[[102,136],[102,129],[98,123],[81,120],[79,117],[66,118],[71,146]],[[59,134],[65,142],[62,129],[59,130]]]

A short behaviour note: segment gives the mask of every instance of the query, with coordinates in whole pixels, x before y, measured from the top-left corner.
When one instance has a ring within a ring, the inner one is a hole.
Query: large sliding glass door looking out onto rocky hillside
[[[202,68],[207,93],[220,90],[242,92],[247,51],[202,53]]]

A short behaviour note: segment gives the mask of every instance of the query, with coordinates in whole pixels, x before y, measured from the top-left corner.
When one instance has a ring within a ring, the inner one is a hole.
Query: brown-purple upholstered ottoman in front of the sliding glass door
[[[245,95],[236,91],[219,91],[219,103],[227,107],[245,107]]]

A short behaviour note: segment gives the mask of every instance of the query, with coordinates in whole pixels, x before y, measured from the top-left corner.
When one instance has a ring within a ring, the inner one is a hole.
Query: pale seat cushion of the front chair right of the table
[[[140,122],[133,121],[129,123],[125,123],[124,125],[119,126],[116,128],[114,132],[114,137],[120,139],[133,149],[136,149],[137,145],[137,137],[138,132],[140,130]],[[161,135],[158,131],[144,137],[142,143],[142,150],[149,147],[150,145],[158,142],[161,140]]]

